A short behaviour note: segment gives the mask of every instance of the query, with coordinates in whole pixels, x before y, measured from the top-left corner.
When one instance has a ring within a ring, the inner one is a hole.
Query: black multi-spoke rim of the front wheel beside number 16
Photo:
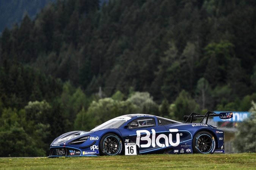
[[[120,142],[116,136],[107,136],[103,142],[104,151],[108,155],[116,155],[120,150]]]

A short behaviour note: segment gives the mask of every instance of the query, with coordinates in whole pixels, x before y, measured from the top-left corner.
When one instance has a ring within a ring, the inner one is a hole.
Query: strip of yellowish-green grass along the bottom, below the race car
[[[0,169],[256,169],[256,153],[0,158]]]

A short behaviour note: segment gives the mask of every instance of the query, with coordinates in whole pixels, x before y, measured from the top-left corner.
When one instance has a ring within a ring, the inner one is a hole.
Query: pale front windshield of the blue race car
[[[109,129],[109,128],[119,128],[121,125],[123,125],[125,122],[127,122],[130,119],[131,119],[131,117],[119,116],[119,117],[111,119],[111,120],[109,120],[109,121],[107,121],[107,122],[105,122],[105,123],[95,127],[91,131],[102,130],[102,129]]]

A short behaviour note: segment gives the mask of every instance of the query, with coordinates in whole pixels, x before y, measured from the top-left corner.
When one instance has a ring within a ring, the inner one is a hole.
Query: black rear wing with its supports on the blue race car
[[[190,124],[192,124],[192,122],[196,121],[199,118],[202,118],[201,121],[199,122],[199,123],[202,123],[204,118],[206,117],[205,124],[207,124],[209,117],[217,117],[217,116],[220,117],[220,119],[230,119],[233,117],[233,113],[232,112],[224,112],[224,113],[217,114],[212,111],[207,111],[206,114],[201,115],[201,114],[192,112],[189,116],[188,115],[184,116],[184,121],[185,121],[185,123],[187,123],[189,121]]]

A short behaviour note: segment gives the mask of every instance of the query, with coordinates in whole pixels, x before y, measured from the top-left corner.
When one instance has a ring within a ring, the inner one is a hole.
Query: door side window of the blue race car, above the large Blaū
[[[129,129],[137,129],[137,128],[144,128],[144,127],[152,127],[155,126],[155,119],[154,118],[139,118],[132,121],[129,124]]]

